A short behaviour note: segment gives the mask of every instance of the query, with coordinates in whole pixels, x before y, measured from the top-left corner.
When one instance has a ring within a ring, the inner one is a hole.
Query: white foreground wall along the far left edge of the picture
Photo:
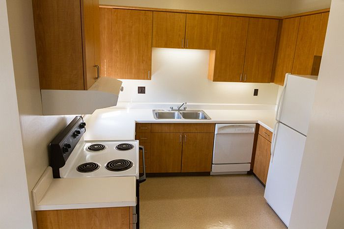
[[[6,1],[0,0],[0,228],[32,228]]]

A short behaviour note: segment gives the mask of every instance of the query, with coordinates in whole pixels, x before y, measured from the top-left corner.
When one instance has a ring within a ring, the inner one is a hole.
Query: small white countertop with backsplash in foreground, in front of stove
[[[135,177],[53,178],[48,167],[32,190],[34,210],[136,205]]]

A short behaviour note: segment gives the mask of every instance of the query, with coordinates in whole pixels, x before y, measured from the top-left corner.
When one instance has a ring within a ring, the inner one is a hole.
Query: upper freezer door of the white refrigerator
[[[287,76],[277,121],[307,136],[315,96],[316,80],[301,76]]]

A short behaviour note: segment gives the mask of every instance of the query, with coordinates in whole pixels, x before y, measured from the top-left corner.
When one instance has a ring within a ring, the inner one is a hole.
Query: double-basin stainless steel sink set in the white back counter
[[[153,110],[153,116],[154,119],[210,119],[202,110]]]

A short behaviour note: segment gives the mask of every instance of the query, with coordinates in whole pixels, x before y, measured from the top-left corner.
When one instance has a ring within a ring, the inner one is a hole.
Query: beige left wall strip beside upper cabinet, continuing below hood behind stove
[[[42,116],[32,3],[30,0],[7,0],[7,11],[28,191],[31,197],[32,188],[48,166],[49,142],[73,116]]]

